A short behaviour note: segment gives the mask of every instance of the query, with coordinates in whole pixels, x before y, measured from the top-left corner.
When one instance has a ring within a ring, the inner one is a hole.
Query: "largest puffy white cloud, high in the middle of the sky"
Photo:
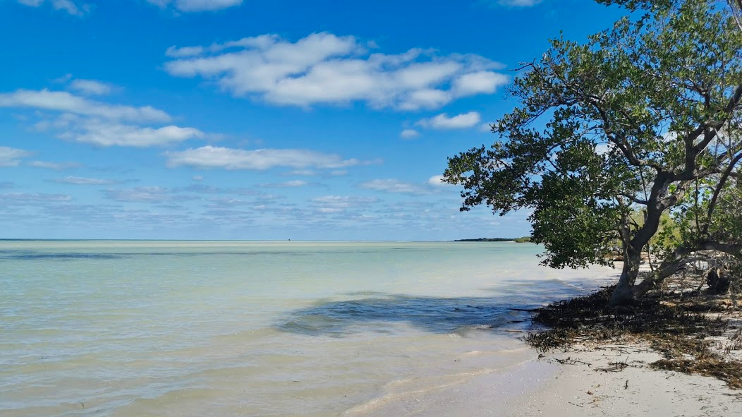
[[[275,105],[366,102],[373,108],[440,108],[463,96],[493,93],[508,77],[472,54],[439,56],[414,48],[369,53],[353,36],[313,33],[297,42],[261,35],[209,46],[170,47],[173,76],[213,79],[234,96]]]

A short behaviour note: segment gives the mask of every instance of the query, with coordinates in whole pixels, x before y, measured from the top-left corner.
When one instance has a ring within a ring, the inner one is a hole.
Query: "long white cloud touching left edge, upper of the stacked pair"
[[[61,111],[81,116],[96,116],[105,119],[122,119],[134,122],[168,122],[171,117],[151,106],[133,107],[109,105],[66,91],[16,90],[0,93],[0,107],[33,108],[36,110]]]

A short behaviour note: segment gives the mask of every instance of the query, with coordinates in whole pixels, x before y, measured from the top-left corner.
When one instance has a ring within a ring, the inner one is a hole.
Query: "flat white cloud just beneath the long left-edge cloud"
[[[95,119],[85,120],[78,126],[59,135],[62,139],[92,145],[135,146],[138,148],[168,145],[204,136],[205,134],[202,131],[195,128],[180,128],[174,125],[162,128],[146,128]]]

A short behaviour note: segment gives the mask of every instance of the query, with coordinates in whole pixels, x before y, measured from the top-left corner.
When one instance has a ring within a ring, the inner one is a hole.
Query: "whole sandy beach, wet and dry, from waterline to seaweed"
[[[570,358],[575,364],[557,364]],[[742,416],[742,394],[723,381],[651,370],[638,347],[547,354],[505,372],[397,395],[352,416]],[[620,372],[604,372],[626,361]],[[590,364],[582,364],[585,362]]]

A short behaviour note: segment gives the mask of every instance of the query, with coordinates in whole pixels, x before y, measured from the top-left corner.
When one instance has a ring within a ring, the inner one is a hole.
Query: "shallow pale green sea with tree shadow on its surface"
[[[0,415],[367,416],[533,359],[531,243],[0,241]]]

